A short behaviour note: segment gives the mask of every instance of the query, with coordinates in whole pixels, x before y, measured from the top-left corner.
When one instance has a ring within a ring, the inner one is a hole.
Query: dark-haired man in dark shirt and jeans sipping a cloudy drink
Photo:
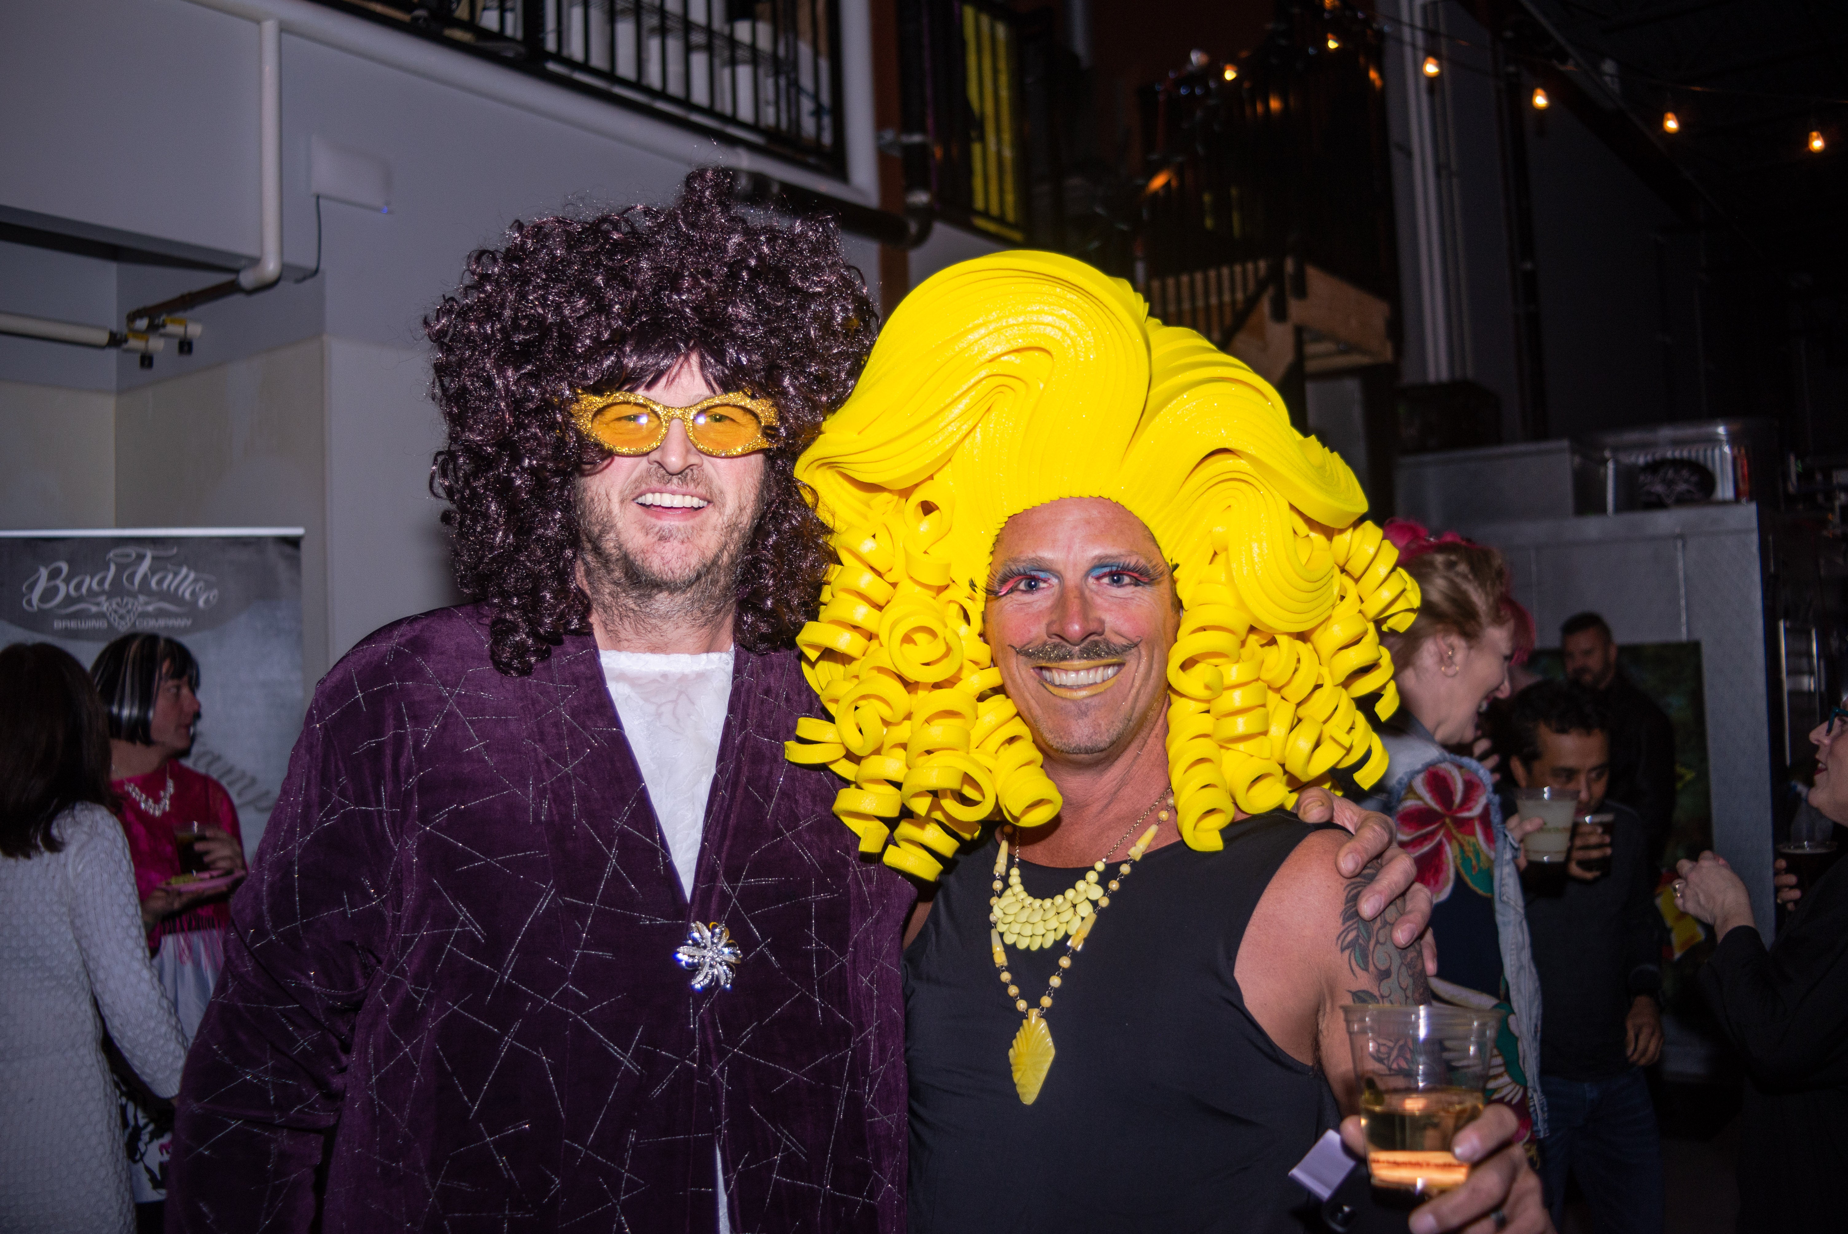
[[[1580,685],[1538,682],[1514,700],[1508,768],[1515,783],[1576,792],[1580,815],[1615,815],[1608,846],[1580,829],[1563,890],[1526,900],[1552,1125],[1541,1142],[1541,1180],[1558,1228],[1565,1228],[1573,1175],[1599,1234],[1660,1234],[1661,1140],[1643,1077],[1661,1053],[1656,870],[1637,815],[1604,800],[1606,724],[1602,698]],[[1600,872],[1604,853],[1610,868]]]

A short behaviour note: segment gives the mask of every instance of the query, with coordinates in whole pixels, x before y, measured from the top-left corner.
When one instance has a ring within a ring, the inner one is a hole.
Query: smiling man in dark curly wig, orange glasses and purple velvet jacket
[[[828,563],[793,464],[876,310],[832,225],[728,192],[516,224],[429,321],[480,602],[316,689],[168,1228],[904,1227],[917,890],[782,750],[821,713],[787,648]]]

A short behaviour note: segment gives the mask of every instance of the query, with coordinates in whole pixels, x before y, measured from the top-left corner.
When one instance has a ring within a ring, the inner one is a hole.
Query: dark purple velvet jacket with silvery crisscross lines
[[[602,682],[567,637],[488,663],[475,608],[322,680],[187,1059],[170,1230],[902,1230],[900,937],[793,652],[737,654],[687,905]],[[693,920],[730,990],[675,964]],[[320,1177],[318,1177],[320,1175]]]

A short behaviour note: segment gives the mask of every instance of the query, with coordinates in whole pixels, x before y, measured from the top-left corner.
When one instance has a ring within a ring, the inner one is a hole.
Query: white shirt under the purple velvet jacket
[[[604,652],[602,682],[623,720],[623,735],[641,767],[654,820],[662,824],[667,855],[680,876],[680,890],[693,898],[693,870],[706,831],[706,798],[719,770],[719,737],[732,702],[732,652],[656,656],[650,652]],[[719,1167],[719,1234],[730,1234],[724,1203],[724,1158]]]

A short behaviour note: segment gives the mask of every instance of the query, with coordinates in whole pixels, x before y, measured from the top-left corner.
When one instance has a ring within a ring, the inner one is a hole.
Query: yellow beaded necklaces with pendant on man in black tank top
[[[1111,852],[1103,853],[1103,861],[1085,870],[1085,877],[1070,890],[1063,890],[1048,900],[1029,896],[1020,883],[1018,844],[1015,844],[1015,865],[1011,870],[1007,868],[1007,841],[1015,835],[1015,828],[1011,824],[1002,828],[1000,850],[994,855],[996,894],[989,900],[992,905],[989,911],[989,946],[994,951],[994,968],[1002,974],[1002,985],[1007,986],[1007,998],[1015,999],[1015,1010],[1027,1014],[1020,1031],[1015,1033],[1015,1044],[1007,1047],[1007,1062],[1015,1075],[1015,1092],[1020,1094],[1022,1105],[1033,1105],[1040,1086],[1046,1083],[1046,1073],[1052,1070],[1055,1051],[1052,1046],[1052,1029],[1046,1027],[1046,1012],[1052,1010],[1053,990],[1064,985],[1063,974],[1072,968],[1072,957],[1085,950],[1085,938],[1090,935],[1090,927],[1098,924],[1098,914],[1111,907],[1111,896],[1122,887],[1122,879],[1129,877],[1135,865],[1142,861],[1142,853],[1148,852],[1155,833],[1161,831],[1161,824],[1168,822],[1168,809],[1162,809],[1149,829],[1129,848],[1129,859],[1116,866],[1116,877],[1101,883],[1100,876],[1109,868],[1111,857],[1124,846],[1124,841],[1142,826],[1142,820],[1157,805],[1173,805],[1173,794],[1166,787],[1148,804],[1148,809],[1137,815],[1137,820],[1129,824],[1122,839],[1111,844]],[[1002,890],[1002,874],[1007,876],[1005,890]],[[1039,1007],[1029,1007],[1020,996],[1020,986],[1015,985],[1015,975],[1007,970],[1005,944],[1039,951],[1040,948],[1053,946],[1059,938],[1064,938],[1064,955],[1059,957],[1059,968],[1046,983],[1046,992],[1040,994]]]

